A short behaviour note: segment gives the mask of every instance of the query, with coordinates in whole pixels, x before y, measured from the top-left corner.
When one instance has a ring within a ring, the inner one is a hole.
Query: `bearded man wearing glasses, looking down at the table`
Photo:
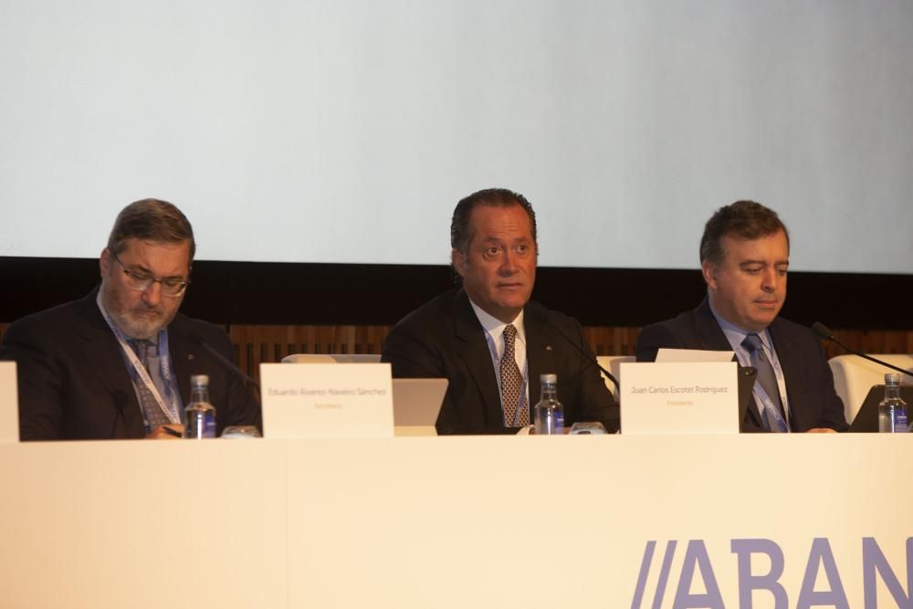
[[[194,232],[174,205],[145,199],[118,215],[101,252],[100,288],[16,321],[0,359],[15,359],[22,440],[173,438],[184,431],[192,374],[209,376],[218,433],[260,424],[226,333],[177,312]]]

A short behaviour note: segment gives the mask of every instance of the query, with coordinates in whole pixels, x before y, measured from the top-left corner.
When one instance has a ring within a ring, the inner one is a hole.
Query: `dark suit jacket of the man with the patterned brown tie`
[[[530,376],[530,409],[539,402],[540,374],[558,375],[558,399],[565,425],[600,421],[618,429],[618,406],[593,362],[580,324],[530,302],[523,315]],[[562,338],[561,333],[567,338]],[[568,344],[575,342],[584,356]],[[440,434],[498,434],[506,428],[498,380],[485,331],[462,289],[448,292],[410,313],[383,343],[383,362],[397,378],[445,377],[444,405],[437,418]],[[532,415],[530,412],[530,421]]]

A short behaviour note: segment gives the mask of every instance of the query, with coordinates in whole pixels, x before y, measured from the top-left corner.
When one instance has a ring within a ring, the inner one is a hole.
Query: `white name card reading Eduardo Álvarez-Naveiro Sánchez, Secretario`
[[[392,437],[389,363],[261,363],[264,437]]]

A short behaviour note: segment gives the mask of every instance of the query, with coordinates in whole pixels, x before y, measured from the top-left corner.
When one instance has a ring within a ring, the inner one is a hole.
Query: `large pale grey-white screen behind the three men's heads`
[[[132,200],[199,257],[446,263],[478,188],[540,264],[695,268],[781,212],[795,269],[911,272],[905,0],[0,0],[0,256],[94,257]]]

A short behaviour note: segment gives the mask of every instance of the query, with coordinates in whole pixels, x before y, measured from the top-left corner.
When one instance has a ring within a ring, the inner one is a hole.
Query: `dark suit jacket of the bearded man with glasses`
[[[16,321],[4,334],[0,359],[15,360],[22,440],[142,438],[142,411],[121,346],[89,296]],[[199,335],[229,360],[225,331],[180,313],[168,326],[168,347],[184,405],[190,376],[209,375],[217,431],[260,425],[260,407],[247,385],[188,335]]]

